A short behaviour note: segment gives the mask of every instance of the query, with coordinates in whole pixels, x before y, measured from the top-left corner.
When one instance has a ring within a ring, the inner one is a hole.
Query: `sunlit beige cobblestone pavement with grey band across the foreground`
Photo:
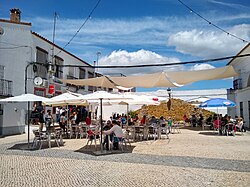
[[[10,149],[27,135],[0,138],[0,186],[250,186],[249,133],[181,132],[104,156],[79,152],[85,139],[30,151]]]

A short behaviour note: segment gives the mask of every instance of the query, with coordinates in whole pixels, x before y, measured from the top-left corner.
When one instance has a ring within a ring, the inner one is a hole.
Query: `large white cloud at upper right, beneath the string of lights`
[[[248,40],[250,38],[250,25],[237,25],[228,32]],[[184,54],[202,58],[216,58],[236,54],[246,43],[224,32],[193,29],[171,35],[168,45],[175,46],[177,51]]]

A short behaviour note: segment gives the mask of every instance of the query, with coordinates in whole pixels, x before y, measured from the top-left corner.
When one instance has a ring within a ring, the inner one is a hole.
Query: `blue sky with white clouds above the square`
[[[0,18],[19,8],[32,31],[94,65],[139,65],[186,62],[236,55],[250,41],[249,0],[0,0]],[[89,17],[91,11],[93,13]],[[209,24],[203,18],[211,22]],[[87,19],[89,17],[89,19]],[[87,20],[87,21],[86,21]],[[85,22],[85,24],[84,24]],[[230,34],[222,32],[224,29]],[[227,61],[167,67],[97,69],[104,75],[138,75],[225,66]],[[180,90],[231,88],[232,78],[200,81]],[[138,91],[153,89],[138,88]]]

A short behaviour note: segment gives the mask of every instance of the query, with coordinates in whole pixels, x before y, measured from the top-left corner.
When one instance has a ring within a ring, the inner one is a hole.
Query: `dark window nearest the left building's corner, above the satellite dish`
[[[42,48],[36,48],[36,61],[39,63],[43,63],[44,65],[36,64],[36,72],[35,76],[42,77],[44,79],[47,78],[47,68],[46,64],[48,62],[48,52]]]

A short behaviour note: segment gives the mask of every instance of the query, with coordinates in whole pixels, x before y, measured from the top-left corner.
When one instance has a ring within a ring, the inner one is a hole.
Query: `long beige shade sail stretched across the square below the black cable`
[[[120,86],[125,87],[179,87],[202,80],[216,80],[238,76],[232,66],[198,71],[172,71],[141,76],[110,77]]]

